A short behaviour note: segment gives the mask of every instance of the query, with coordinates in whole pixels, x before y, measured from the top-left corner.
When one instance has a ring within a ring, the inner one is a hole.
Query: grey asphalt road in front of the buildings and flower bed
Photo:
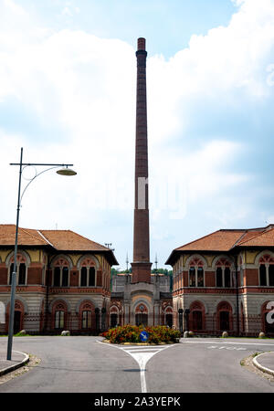
[[[183,339],[161,350],[118,349],[101,340],[16,337],[13,349],[35,354],[41,363],[0,385],[0,393],[274,392],[268,379],[240,365],[251,353],[274,351],[272,340]],[[5,337],[0,338],[0,349],[6,349]],[[146,358],[143,373],[142,353]]]

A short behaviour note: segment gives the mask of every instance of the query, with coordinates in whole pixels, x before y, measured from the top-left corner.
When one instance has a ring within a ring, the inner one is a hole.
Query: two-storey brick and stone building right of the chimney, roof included
[[[274,334],[273,225],[216,231],[175,248],[166,264],[174,272],[175,328]]]

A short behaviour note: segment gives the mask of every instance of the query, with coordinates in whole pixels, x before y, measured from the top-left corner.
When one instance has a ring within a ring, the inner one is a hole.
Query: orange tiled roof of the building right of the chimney
[[[248,229],[221,229],[175,248],[165,264],[174,262],[180,251],[224,251],[235,247],[274,247],[274,226]]]

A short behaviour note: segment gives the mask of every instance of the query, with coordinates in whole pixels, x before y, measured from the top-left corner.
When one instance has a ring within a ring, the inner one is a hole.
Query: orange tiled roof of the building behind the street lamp
[[[16,226],[12,224],[0,225],[0,247],[14,246],[16,241]],[[35,230],[18,228],[18,246],[51,246],[58,251],[92,251],[106,252],[111,264],[118,262],[110,248],[106,248],[82,237],[70,230]]]

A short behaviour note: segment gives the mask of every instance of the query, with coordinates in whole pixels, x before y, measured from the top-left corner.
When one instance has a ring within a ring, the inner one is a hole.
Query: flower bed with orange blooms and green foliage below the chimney
[[[161,342],[178,342],[180,332],[172,328],[158,325],[156,327],[142,327],[136,325],[124,325],[121,327],[111,328],[107,332],[102,332],[100,335],[105,337],[111,343],[141,342],[140,333],[146,331],[149,334],[148,343],[159,344]]]

